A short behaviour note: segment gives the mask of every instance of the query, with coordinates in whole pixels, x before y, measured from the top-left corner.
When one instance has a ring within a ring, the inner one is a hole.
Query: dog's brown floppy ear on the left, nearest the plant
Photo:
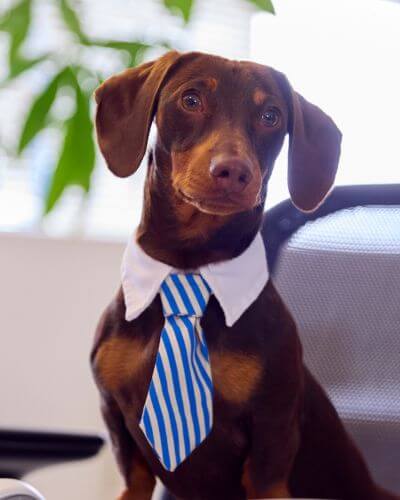
[[[168,52],[109,78],[95,92],[100,150],[119,177],[133,174],[143,159],[159,92],[178,58],[178,52]]]

